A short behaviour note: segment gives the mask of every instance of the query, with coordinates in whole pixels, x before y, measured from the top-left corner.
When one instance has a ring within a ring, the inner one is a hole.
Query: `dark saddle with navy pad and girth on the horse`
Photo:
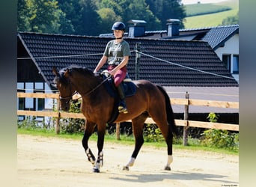
[[[100,76],[103,77],[104,81],[108,79],[107,81],[104,82],[104,87],[106,88],[106,91],[109,93],[109,96],[114,97],[114,106],[113,106],[113,111],[112,115],[107,123],[111,124],[113,123],[119,115],[118,111],[118,104],[119,104],[119,94],[117,89],[115,88],[115,82],[113,77],[109,77],[109,72],[107,70],[104,70],[103,73],[100,73]],[[136,91],[137,91],[137,86],[132,82],[132,79],[129,78],[129,75],[127,73],[125,79],[123,82],[121,82],[124,88],[124,95],[125,97],[127,96],[133,96]]]

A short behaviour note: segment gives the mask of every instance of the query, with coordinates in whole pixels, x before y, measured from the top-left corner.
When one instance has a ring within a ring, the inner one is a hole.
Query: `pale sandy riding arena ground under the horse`
[[[89,141],[94,154],[97,144]],[[239,186],[239,158],[219,153],[174,149],[171,171],[164,171],[166,150],[142,147],[135,165],[122,171],[133,146],[105,143],[104,166],[92,172],[81,141],[17,136],[20,186]]]

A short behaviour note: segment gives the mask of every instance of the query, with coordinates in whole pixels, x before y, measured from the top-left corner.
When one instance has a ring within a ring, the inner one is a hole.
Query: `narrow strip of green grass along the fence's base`
[[[72,139],[72,140],[82,140],[82,133],[80,134],[62,134],[59,135],[55,134],[54,130],[45,130],[45,129],[17,129],[18,135],[35,135],[35,136],[43,136],[43,137],[54,137],[54,138],[65,138],[65,139]],[[97,134],[94,133],[90,137],[90,141],[97,141]],[[134,145],[134,138],[132,136],[121,135],[121,140],[117,140],[115,135],[106,135],[105,141],[112,142],[115,144],[122,144],[122,145]],[[155,147],[155,148],[165,148],[165,142],[144,142],[145,147]],[[202,150],[202,151],[210,151],[214,153],[224,153],[224,154],[231,154],[231,155],[238,155],[238,152],[232,150],[225,150],[225,149],[217,149],[214,147],[204,147],[198,145],[195,139],[189,139],[189,146],[183,146],[183,144],[174,144],[174,149],[179,150]]]

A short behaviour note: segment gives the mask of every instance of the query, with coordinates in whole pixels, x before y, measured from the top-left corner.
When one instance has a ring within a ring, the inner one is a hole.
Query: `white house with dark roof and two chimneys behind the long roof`
[[[166,30],[146,31],[147,22],[132,19],[128,23],[129,37],[206,41],[239,82],[239,25],[180,29],[179,19],[168,19]],[[112,34],[100,34],[100,37],[110,36]]]

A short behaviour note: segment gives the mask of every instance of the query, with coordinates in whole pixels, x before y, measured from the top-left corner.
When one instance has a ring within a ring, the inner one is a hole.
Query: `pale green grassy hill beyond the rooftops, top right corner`
[[[222,24],[228,16],[239,11],[239,0],[227,0],[213,4],[187,4],[185,28],[204,28]],[[196,16],[192,16],[196,15]]]

